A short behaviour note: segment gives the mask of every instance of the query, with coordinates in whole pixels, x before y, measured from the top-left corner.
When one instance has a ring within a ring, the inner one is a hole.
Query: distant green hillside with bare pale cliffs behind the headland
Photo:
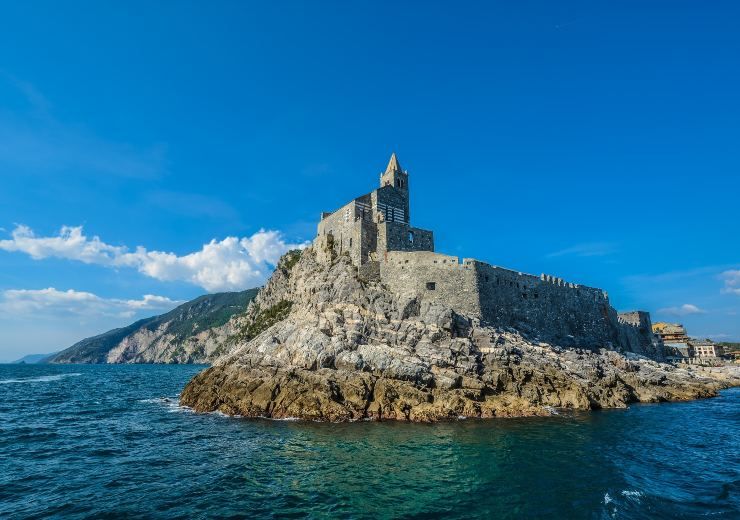
[[[244,312],[258,289],[201,296],[166,314],[83,339],[50,363],[207,363],[229,335],[229,319]]]

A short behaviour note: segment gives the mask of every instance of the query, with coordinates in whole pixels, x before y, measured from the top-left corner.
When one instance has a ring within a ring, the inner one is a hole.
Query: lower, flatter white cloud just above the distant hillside
[[[90,292],[46,289],[8,289],[2,292],[0,311],[11,316],[81,315],[131,318],[140,311],[167,311],[182,303],[164,296],[146,294],[140,300],[101,298]]]

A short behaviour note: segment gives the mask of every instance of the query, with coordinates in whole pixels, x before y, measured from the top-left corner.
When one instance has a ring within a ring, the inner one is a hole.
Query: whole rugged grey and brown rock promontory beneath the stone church
[[[740,384],[738,369],[702,373],[481,327],[363,280],[348,256],[314,247],[284,257],[232,326],[229,353],[188,383],[182,404],[247,417],[435,421],[693,399]]]

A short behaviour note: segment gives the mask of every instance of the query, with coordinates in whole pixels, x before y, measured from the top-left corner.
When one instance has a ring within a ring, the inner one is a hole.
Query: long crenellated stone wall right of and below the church
[[[380,275],[394,292],[443,303],[483,324],[512,327],[542,341],[589,348],[619,341],[607,294],[560,278],[431,252],[389,252]]]

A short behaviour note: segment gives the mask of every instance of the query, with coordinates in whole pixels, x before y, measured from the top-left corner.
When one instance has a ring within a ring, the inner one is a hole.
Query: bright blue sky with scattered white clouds
[[[0,360],[259,286],[409,171],[437,251],[740,340],[740,4],[4,2]]]

